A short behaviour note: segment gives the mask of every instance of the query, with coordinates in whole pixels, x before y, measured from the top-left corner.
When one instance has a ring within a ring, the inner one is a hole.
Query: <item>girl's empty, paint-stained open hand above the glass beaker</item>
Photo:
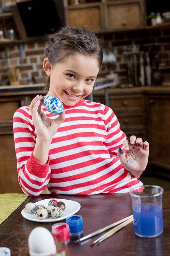
[[[135,136],[131,136],[130,143],[128,140],[124,140],[123,145],[125,154],[121,148],[118,148],[117,155],[125,169],[132,172],[143,172],[148,162],[149,143],[147,141],[143,143],[141,138],[136,139]]]

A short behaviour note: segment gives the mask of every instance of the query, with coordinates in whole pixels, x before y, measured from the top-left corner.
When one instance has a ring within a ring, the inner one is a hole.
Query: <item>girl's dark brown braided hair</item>
[[[80,27],[64,27],[59,32],[51,35],[48,39],[48,47],[45,49],[45,57],[50,64],[65,61],[66,56],[73,52],[78,52],[86,56],[94,56],[102,66],[103,50],[100,39],[94,32]],[[45,91],[49,90],[50,76],[45,86]]]

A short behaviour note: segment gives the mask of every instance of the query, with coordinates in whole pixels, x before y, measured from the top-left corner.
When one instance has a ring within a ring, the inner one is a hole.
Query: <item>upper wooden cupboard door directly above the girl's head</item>
[[[100,30],[102,28],[99,6],[68,11],[69,26]]]

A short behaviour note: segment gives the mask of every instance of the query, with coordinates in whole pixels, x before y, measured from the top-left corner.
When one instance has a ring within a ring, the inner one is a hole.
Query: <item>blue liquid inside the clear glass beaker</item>
[[[142,237],[159,236],[163,232],[162,208],[157,204],[133,207],[134,231]]]

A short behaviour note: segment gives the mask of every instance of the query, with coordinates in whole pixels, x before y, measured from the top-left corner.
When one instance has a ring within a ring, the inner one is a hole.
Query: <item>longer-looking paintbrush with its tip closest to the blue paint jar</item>
[[[93,232],[93,233],[90,233],[90,234],[87,235],[87,236],[83,236],[82,238],[77,239],[76,241],[74,241],[74,243],[80,244],[82,241],[84,241],[84,240],[86,240],[86,239],[89,239],[89,238],[91,238],[91,237],[93,237],[93,236],[99,235],[100,233],[104,232],[105,230],[108,230],[108,229],[110,229],[111,227],[115,227],[116,225],[118,225],[118,224],[120,224],[120,223],[122,223],[122,222],[128,220],[129,218],[132,218],[132,217],[133,217],[133,215],[130,215],[130,216],[126,217],[126,218],[123,218],[123,219],[120,220],[120,221],[116,221],[115,223],[113,223],[113,224],[111,224],[111,225],[109,225],[109,226],[107,226],[107,227],[103,227],[103,228],[101,228],[101,229],[99,229],[99,230],[96,230],[96,231]]]

